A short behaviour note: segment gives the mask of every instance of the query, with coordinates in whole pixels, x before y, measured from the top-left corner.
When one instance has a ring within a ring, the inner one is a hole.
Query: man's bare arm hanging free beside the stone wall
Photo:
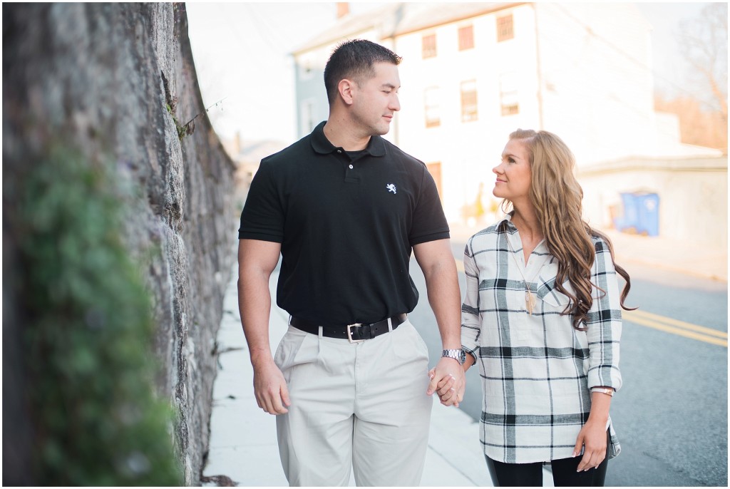
[[[288,412],[286,407],[291,404],[284,376],[269,347],[269,277],[280,253],[280,243],[239,239],[238,307],[253,365],[253,390],[258,407],[272,415]]]

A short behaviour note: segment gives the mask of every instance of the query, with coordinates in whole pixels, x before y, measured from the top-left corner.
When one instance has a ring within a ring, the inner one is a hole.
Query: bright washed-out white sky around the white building
[[[636,2],[653,26],[655,85],[683,85],[677,31],[707,3]],[[350,2],[359,13],[382,3]],[[334,2],[188,2],[188,32],[203,101],[223,139],[296,140],[293,58],[290,53],[336,20]],[[678,69],[677,67],[680,66]],[[217,105],[215,105],[217,104]]]

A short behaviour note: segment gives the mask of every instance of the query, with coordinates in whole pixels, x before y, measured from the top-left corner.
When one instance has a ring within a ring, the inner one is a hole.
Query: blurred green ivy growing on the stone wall
[[[172,409],[153,387],[150,300],[120,236],[119,178],[54,150],[18,180],[4,191],[15,207],[34,479],[180,485]]]

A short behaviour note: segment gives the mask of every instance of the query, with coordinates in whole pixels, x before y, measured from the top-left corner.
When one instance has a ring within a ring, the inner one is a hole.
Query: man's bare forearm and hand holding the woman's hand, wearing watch
[[[458,288],[456,261],[449,239],[416,244],[413,254],[426,277],[429,304],[439,325],[444,350],[461,350],[461,292]],[[464,369],[453,358],[441,358],[431,369],[426,394],[439,394],[441,404],[458,407],[464,398]],[[450,379],[453,378],[453,382]]]

